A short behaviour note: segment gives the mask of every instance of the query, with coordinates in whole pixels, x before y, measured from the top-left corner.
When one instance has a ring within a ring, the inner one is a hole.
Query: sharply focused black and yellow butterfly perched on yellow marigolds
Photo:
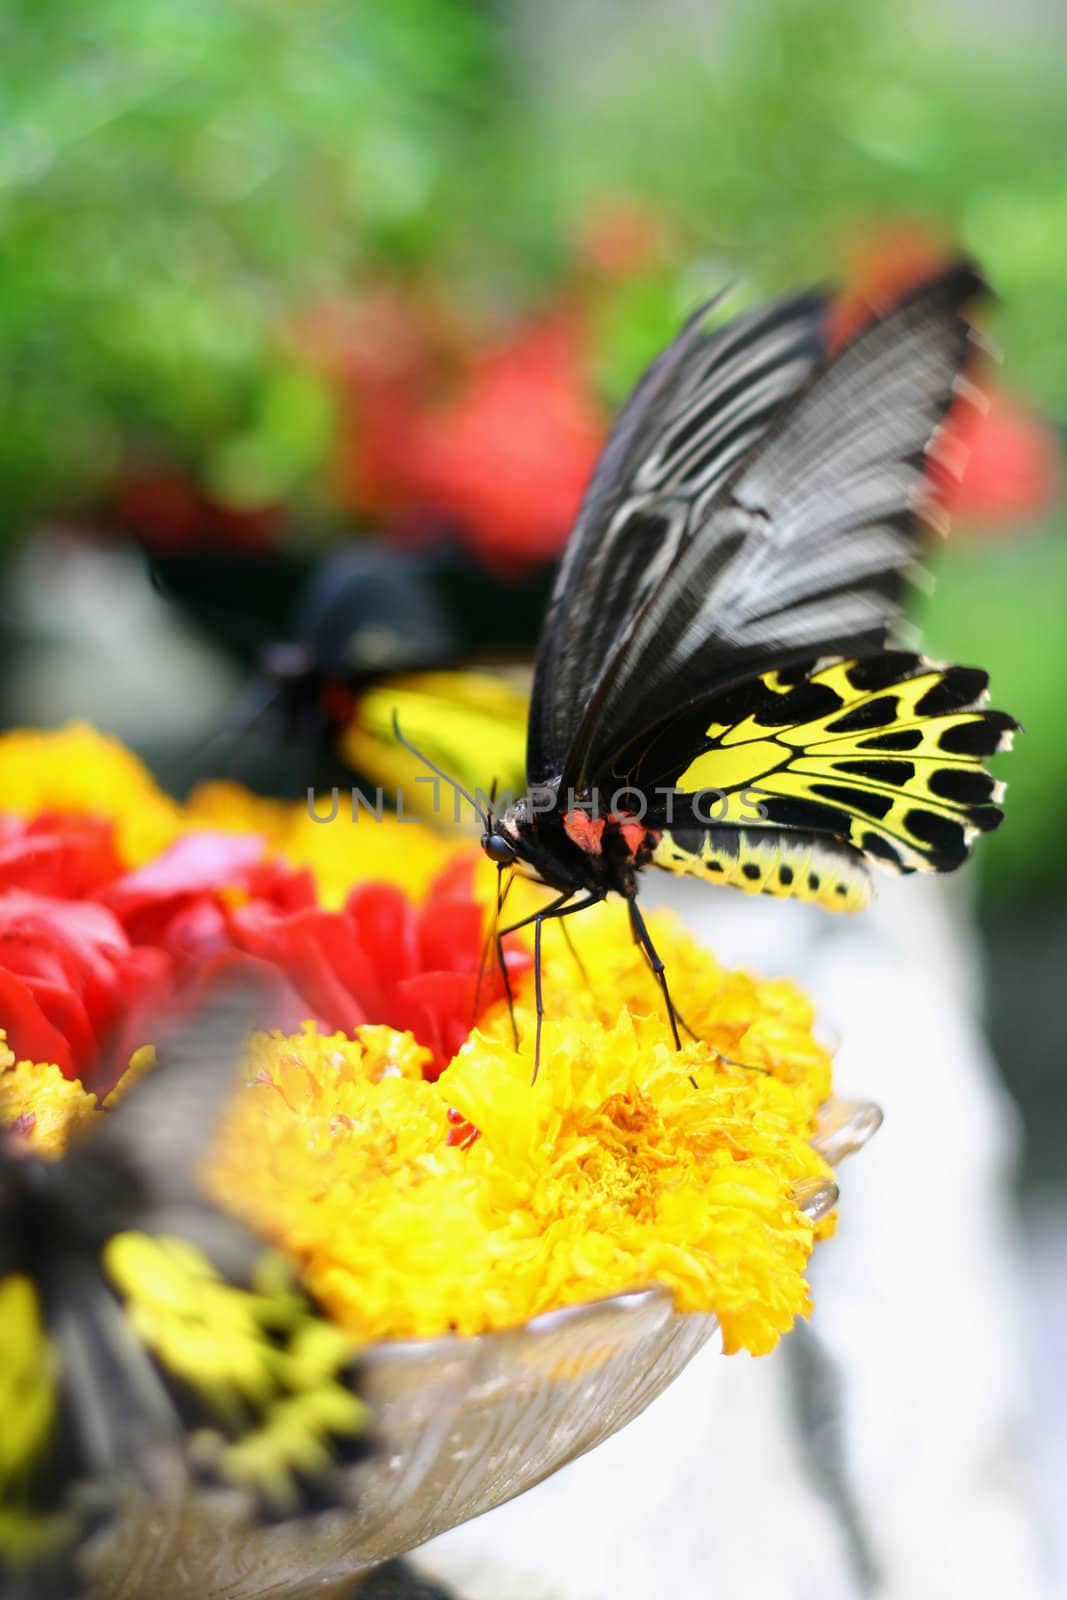
[[[982,758],[1016,722],[985,674],[889,648],[936,522],[949,406],[981,403],[958,262],[832,354],[806,293],[713,331],[704,307],[625,405],[537,648],[528,792],[483,846],[558,896],[645,866],[854,910],[867,864],[947,872],[1001,821]],[[933,470],[931,470],[933,469]]]

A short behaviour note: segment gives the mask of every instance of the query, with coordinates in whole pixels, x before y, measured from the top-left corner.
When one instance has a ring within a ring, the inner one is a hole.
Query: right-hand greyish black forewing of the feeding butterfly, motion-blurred
[[[886,643],[933,515],[928,458],[977,344],[963,312],[982,288],[957,264],[779,406],[621,637],[566,786],[613,774],[621,749],[717,688]]]

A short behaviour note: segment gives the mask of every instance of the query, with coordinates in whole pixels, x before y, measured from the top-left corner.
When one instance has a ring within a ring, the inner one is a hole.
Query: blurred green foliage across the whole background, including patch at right
[[[825,277],[905,218],[974,251],[1005,382],[1062,424],[1065,45],[1056,8],[952,0],[6,0],[0,536],[138,456],[326,520],[298,318],[381,272],[504,312],[579,293],[611,195],[673,250],[598,285],[608,405],[702,294]],[[1005,883],[1067,874],[1065,550],[1064,525],[953,549],[929,613],[1030,726],[984,853]]]

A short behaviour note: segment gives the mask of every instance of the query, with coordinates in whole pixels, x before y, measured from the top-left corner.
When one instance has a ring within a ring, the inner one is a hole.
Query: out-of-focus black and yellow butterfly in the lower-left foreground
[[[354,1347],[192,1176],[251,1021],[216,992],[59,1162],[0,1142],[3,1600],[80,1594],[128,1506],[237,1491],[290,1518],[349,1498]]]

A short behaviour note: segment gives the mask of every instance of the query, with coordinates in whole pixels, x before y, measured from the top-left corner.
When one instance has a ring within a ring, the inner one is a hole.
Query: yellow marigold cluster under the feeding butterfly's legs
[[[829,1091],[809,1006],[657,918],[681,1011],[733,1061],[678,1054],[625,920],[574,922],[592,979],[549,958],[534,1085],[528,1003],[520,1051],[498,1008],[437,1083],[389,1029],[261,1037],[211,1182],[362,1339],[475,1334],[665,1283],[678,1309],[717,1312],[728,1350],[769,1350],[809,1310],[792,1184],[829,1173],[808,1144]],[[448,1144],[456,1114],[474,1142]]]

